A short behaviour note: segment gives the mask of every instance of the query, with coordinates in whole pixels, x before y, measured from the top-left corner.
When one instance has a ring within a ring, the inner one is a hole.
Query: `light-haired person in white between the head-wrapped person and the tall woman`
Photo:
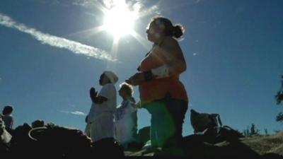
[[[137,135],[137,107],[132,97],[132,86],[122,83],[119,95],[123,101],[115,113],[115,139],[127,148],[127,144],[135,141],[134,136]]]

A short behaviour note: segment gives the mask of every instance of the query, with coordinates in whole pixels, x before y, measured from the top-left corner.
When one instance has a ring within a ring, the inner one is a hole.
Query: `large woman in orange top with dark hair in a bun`
[[[163,17],[152,18],[146,30],[154,43],[127,83],[139,86],[141,107],[151,114],[151,147],[180,146],[188,98],[180,73],[186,70],[177,39],[184,33],[182,25],[173,25]]]

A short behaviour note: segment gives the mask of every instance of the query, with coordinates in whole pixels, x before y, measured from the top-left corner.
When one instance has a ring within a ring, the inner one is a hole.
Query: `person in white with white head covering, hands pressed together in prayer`
[[[113,114],[116,110],[116,89],[114,84],[118,81],[112,71],[104,71],[99,79],[101,88],[98,93],[91,88],[90,95],[93,104],[88,113],[89,134],[92,141],[114,138]]]

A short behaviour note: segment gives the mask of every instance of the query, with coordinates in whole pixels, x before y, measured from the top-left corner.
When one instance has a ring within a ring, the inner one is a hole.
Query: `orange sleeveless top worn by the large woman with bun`
[[[158,68],[165,64],[166,58],[168,57],[166,57],[164,52],[158,52],[152,49],[141,61],[140,71],[144,72]],[[179,75],[169,76],[167,78],[156,78],[151,81],[145,81],[139,85],[141,105],[146,104],[146,102],[160,100],[164,98],[167,93],[170,93],[173,99],[188,101],[185,87],[183,83],[179,81]]]

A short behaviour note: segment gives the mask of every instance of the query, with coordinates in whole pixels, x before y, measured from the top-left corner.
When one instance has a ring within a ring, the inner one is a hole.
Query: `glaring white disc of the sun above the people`
[[[132,33],[137,16],[124,5],[115,6],[105,12],[103,27],[115,38]]]

